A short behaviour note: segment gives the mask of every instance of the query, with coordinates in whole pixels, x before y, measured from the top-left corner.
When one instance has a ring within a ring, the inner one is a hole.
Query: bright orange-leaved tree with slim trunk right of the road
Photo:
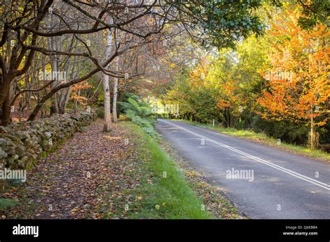
[[[313,149],[315,127],[329,119],[329,31],[322,24],[304,31],[298,25],[298,10],[284,14],[287,16],[276,19],[269,30],[274,40],[269,54],[272,66],[262,73],[269,84],[258,99],[258,113],[265,119],[309,124]]]

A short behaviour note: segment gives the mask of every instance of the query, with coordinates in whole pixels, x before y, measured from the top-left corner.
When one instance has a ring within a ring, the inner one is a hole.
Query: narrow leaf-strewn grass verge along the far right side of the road
[[[243,129],[239,130],[239,129],[233,129],[233,128],[224,128],[224,127],[219,127],[219,126],[213,127],[212,124],[201,124],[199,122],[194,122],[194,121],[189,121],[189,120],[175,120],[175,121],[185,122],[187,124],[195,125],[198,127],[203,127],[206,129],[212,129],[221,134],[228,134],[229,136],[245,138],[247,140],[252,140],[257,143],[262,143],[265,145],[276,147],[281,150],[293,152],[295,154],[301,154],[303,156],[308,156],[308,157],[312,157],[315,159],[320,159],[322,161],[330,162],[330,154],[323,152],[322,150],[310,150],[307,147],[302,147],[299,145],[292,145],[292,144],[288,144],[288,143],[284,143],[284,142],[281,142],[281,145],[277,145],[276,138],[269,137],[266,134],[256,133],[253,131],[243,130]]]

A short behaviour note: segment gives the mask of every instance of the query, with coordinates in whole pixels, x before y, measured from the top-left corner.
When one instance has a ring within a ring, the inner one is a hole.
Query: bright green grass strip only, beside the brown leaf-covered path
[[[131,209],[127,209],[127,217],[215,218],[189,187],[182,170],[154,139],[132,122],[121,122],[120,125],[132,133],[142,174],[141,187],[130,191],[138,199],[129,204]]]

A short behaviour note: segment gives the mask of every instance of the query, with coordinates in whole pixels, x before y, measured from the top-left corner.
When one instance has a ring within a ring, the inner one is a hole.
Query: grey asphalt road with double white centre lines
[[[178,121],[157,131],[250,218],[330,218],[330,163]]]

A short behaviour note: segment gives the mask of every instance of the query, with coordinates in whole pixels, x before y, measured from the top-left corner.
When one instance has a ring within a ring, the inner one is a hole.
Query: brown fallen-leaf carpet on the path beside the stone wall
[[[3,193],[19,205],[0,210],[0,218],[104,218],[118,209],[99,208],[132,186],[127,170],[134,163],[134,143],[125,143],[129,133],[120,125],[112,125],[110,133],[102,129],[97,120],[38,161],[24,184]]]

